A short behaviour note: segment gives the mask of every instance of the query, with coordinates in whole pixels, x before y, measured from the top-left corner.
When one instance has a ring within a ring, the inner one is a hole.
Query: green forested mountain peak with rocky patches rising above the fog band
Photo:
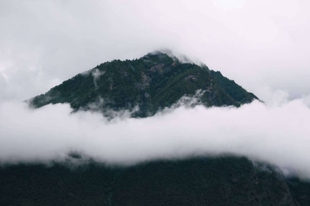
[[[26,100],[33,107],[70,103],[74,110],[110,109],[139,111],[133,117],[152,116],[182,96],[200,90],[199,103],[207,107],[250,103],[258,99],[219,71],[206,65],[180,63],[166,53],[148,53],[135,60],[113,60],[77,74],[47,93]]]

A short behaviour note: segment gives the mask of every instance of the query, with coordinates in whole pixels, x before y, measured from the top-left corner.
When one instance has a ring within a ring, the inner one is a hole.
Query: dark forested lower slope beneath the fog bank
[[[108,167],[0,167],[1,205],[310,205],[310,183],[246,158],[193,158]]]

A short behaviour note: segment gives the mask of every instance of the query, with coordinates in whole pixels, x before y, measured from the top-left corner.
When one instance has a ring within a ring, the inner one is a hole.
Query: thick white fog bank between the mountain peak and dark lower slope
[[[286,97],[278,91],[268,105],[254,101],[240,108],[181,103],[152,117],[134,119],[123,112],[112,121],[96,112],[72,113],[69,104],[30,109],[2,102],[0,162],[45,162],[70,151],[121,164],[234,153],[310,178],[310,98]]]

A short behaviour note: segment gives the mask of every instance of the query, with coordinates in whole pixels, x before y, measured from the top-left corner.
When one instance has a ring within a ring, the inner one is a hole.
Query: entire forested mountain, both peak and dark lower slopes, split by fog
[[[166,53],[97,65],[26,100],[38,108],[70,103],[77,111],[128,109],[154,115],[183,96],[206,107],[258,99],[219,71],[181,63]],[[135,110],[136,107],[139,110]],[[206,131],[207,132],[207,131]],[[0,162],[1,163],[1,162]],[[310,183],[243,157],[196,157],[113,166],[71,153],[48,165],[0,164],[0,205],[308,206]]]

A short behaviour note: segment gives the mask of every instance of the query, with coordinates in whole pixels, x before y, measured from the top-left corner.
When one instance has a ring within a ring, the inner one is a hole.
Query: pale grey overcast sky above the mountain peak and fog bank
[[[0,99],[168,48],[268,102],[310,93],[309,1],[0,1]]]

